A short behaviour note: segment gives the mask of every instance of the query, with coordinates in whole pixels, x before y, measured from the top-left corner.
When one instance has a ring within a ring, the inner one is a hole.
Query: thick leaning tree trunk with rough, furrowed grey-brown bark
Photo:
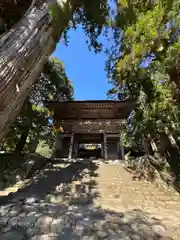
[[[65,7],[68,1],[63,2],[62,7]],[[61,14],[66,16],[67,12],[61,11]],[[69,18],[64,16],[62,30],[72,14]],[[0,39],[0,140],[18,115],[47,57],[55,50],[53,35],[54,26],[47,4],[43,4],[32,7]]]

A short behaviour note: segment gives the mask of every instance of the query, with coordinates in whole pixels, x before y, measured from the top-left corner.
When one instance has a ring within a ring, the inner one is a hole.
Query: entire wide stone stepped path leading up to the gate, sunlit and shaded
[[[3,201],[1,240],[180,239],[179,195],[120,164],[50,164]]]

